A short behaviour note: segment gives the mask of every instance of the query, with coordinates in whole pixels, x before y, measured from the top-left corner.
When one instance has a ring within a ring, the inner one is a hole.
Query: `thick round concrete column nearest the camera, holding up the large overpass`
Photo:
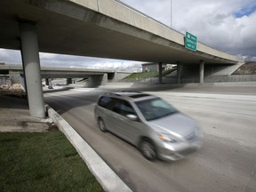
[[[45,117],[36,26],[20,23],[21,56],[26,75],[28,106],[31,116]]]

